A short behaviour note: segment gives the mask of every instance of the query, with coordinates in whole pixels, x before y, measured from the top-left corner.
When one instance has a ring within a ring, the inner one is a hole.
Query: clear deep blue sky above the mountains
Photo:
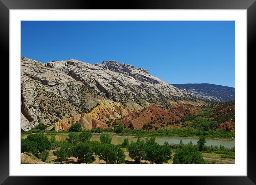
[[[116,60],[171,84],[235,87],[235,21],[21,21],[21,56]]]

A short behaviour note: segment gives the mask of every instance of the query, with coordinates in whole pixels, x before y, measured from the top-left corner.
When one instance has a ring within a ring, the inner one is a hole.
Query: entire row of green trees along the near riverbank
[[[68,138],[62,142],[55,141],[55,137],[50,140],[43,133],[35,133],[28,135],[26,139],[21,139],[21,152],[31,152],[36,157],[46,161],[49,156],[49,150],[55,147],[60,149],[54,151],[59,161],[65,161],[68,157],[74,156],[79,162],[86,164],[95,161],[98,156],[99,160],[104,160],[105,164],[122,164],[125,161],[124,151],[120,146],[111,144],[112,138],[109,135],[101,135],[100,142],[90,141],[92,134],[89,131],[70,132]],[[136,142],[131,142],[127,138],[124,139],[122,147],[126,147],[129,156],[140,164],[141,160],[148,160],[154,164],[167,163],[172,158],[171,149],[176,150],[173,156],[173,164],[205,164],[200,151],[213,151],[223,154],[223,158],[234,158],[235,147],[231,149],[225,148],[223,145],[206,146],[205,136],[200,136],[196,145],[190,141],[189,144],[183,144],[180,140],[179,144],[168,144],[164,142],[159,145],[155,137],[140,138]]]

